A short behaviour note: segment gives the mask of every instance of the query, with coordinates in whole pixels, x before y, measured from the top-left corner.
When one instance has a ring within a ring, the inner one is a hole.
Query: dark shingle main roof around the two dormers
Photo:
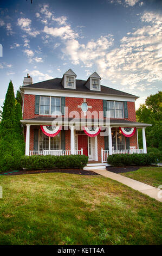
[[[29,84],[28,86],[23,86],[23,88],[55,89],[55,90],[64,90],[64,91],[72,90],[73,92],[85,92],[85,93],[92,92],[85,86],[85,83],[87,82],[85,80],[76,79],[76,89],[63,88],[63,86],[61,84],[61,80],[62,80],[62,78],[54,78],[54,79],[43,81],[43,82]],[[109,88],[107,86],[101,86],[101,92],[93,91],[92,93],[118,95],[118,96],[129,96],[129,97],[138,98],[138,96],[135,96],[135,95],[132,95],[129,93],[125,93],[125,92],[121,92],[120,90]]]

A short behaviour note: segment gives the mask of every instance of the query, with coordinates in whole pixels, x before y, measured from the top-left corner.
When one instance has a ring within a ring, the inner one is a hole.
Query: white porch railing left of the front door
[[[30,150],[29,151],[29,156],[33,155],[52,155],[52,156],[68,156],[71,155],[71,150]],[[75,150],[75,155],[83,155],[83,149],[81,150]]]

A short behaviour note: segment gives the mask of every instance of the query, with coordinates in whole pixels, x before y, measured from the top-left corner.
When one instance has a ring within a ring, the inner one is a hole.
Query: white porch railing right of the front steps
[[[121,149],[112,150],[112,154],[144,154],[144,149]],[[109,156],[109,150],[103,150],[101,148],[101,161],[102,163],[107,162]]]

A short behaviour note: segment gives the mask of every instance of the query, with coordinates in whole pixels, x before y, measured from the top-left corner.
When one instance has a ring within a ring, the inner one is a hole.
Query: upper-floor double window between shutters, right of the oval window
[[[107,117],[124,118],[122,101],[107,101]]]

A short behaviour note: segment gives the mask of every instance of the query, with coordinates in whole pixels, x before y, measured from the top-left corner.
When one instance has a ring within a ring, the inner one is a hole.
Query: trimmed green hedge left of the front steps
[[[80,168],[88,163],[88,156],[22,156],[21,167],[28,170],[52,169],[52,168]]]

